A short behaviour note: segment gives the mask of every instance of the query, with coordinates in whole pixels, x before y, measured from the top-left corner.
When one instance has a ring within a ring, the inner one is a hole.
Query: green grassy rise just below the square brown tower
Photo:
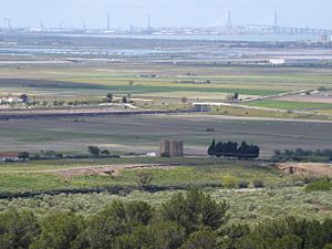
[[[110,186],[136,186],[139,170],[148,172],[153,176],[153,185],[159,186],[208,186],[221,185],[225,176],[231,176],[240,180],[251,183],[256,179],[263,180],[268,187],[288,186],[299,180],[298,177],[290,177],[277,169],[257,166],[253,162],[229,162],[210,158],[152,158],[152,159],[106,159],[98,160],[50,160],[40,163],[29,163],[24,165],[13,164],[1,166],[0,191],[43,191],[53,189],[81,189]],[[117,163],[116,163],[117,162]],[[176,162],[179,166],[152,169],[121,169],[120,175],[76,175],[62,176],[54,173],[45,173],[49,169],[66,169],[84,165],[121,165],[142,163],[164,163]]]

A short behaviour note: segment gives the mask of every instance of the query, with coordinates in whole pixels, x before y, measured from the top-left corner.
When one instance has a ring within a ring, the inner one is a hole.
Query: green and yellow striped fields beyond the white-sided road
[[[225,100],[225,94],[273,95],[332,87],[331,69],[229,68],[120,63],[110,65],[21,66],[0,69],[2,91],[61,91],[72,94],[132,93],[145,96],[186,93]],[[32,82],[31,82],[32,81]],[[35,81],[35,82],[33,82]],[[134,84],[128,84],[133,81]],[[206,83],[206,82],[209,83]],[[193,83],[194,82],[194,83]],[[178,94],[174,97],[178,98]]]

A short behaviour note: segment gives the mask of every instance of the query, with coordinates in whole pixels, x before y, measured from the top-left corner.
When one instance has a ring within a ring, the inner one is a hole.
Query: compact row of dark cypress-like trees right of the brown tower
[[[216,142],[212,141],[207,149],[209,156],[216,157],[228,157],[238,159],[256,159],[259,157],[260,148],[255,144],[248,144],[242,142],[238,144],[237,142]]]

